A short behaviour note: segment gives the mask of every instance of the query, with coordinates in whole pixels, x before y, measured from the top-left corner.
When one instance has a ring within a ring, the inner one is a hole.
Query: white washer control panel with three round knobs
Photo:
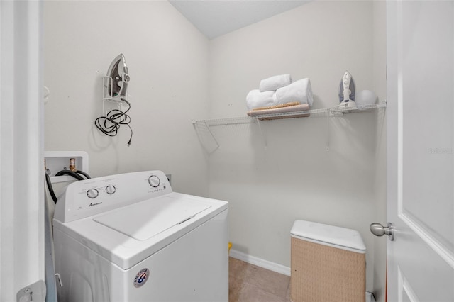
[[[75,181],[55,206],[55,220],[63,223],[172,193],[162,171],[133,172]]]

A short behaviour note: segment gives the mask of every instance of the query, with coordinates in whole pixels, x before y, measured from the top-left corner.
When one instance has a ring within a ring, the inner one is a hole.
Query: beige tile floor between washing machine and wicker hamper
[[[289,302],[289,284],[289,276],[229,258],[229,302]]]

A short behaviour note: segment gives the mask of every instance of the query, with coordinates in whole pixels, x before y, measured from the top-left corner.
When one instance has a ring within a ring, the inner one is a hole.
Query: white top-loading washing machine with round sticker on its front
[[[160,171],[70,184],[53,220],[59,301],[228,301],[227,214]]]

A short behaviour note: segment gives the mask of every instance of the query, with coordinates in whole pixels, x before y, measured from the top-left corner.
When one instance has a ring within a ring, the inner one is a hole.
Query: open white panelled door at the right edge
[[[454,301],[454,2],[387,2],[388,301]]]

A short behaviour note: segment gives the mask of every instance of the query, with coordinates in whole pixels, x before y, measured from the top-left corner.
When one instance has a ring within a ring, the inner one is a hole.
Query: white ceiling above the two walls
[[[230,33],[310,0],[169,0],[209,39]]]

